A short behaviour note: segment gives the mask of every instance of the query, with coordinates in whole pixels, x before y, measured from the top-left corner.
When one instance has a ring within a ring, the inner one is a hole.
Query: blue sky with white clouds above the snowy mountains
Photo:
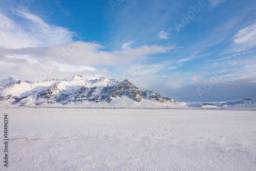
[[[178,101],[256,99],[256,1],[0,1],[0,79],[128,79]]]

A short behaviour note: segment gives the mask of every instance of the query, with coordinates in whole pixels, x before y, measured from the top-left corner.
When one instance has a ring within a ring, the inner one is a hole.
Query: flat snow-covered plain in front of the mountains
[[[0,111],[2,129],[9,116],[8,170],[256,169],[255,110]]]

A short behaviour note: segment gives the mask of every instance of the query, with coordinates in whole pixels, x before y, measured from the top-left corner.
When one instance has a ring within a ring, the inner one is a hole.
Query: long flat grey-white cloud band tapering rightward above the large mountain
[[[67,42],[49,47],[30,47],[21,49],[2,48],[0,57],[7,60],[7,56],[23,56],[42,61],[56,61],[72,66],[112,66],[131,63],[141,56],[166,53],[175,46],[142,46],[122,51],[107,52],[96,42]],[[17,57],[16,57],[17,58]]]

